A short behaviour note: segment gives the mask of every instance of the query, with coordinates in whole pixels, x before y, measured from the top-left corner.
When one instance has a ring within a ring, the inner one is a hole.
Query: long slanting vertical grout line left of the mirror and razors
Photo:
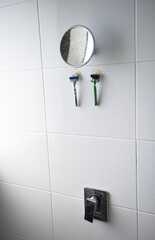
[[[44,95],[44,110],[45,110],[45,123],[46,123],[46,143],[47,143],[47,154],[48,154],[48,175],[49,175],[49,186],[50,186],[50,206],[51,206],[51,220],[52,220],[52,236],[54,237],[54,219],[53,219],[53,205],[52,205],[52,186],[51,186],[51,172],[50,172],[50,155],[49,155],[49,143],[47,134],[47,111],[46,111],[46,97],[45,97],[45,83],[44,83],[44,71],[43,71],[43,50],[41,40],[41,25],[40,25],[40,12],[39,12],[39,1],[36,0],[37,13],[38,13],[38,30],[39,30],[39,42],[40,42],[40,56],[41,56],[41,67],[42,67],[42,84],[43,84],[43,95]]]

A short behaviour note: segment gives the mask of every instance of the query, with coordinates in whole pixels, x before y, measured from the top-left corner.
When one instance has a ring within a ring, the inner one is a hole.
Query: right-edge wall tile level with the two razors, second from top
[[[155,63],[137,68],[138,138],[155,140]]]

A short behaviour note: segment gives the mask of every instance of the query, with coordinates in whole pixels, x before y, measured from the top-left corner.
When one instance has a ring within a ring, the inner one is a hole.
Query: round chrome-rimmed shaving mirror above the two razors
[[[71,66],[82,67],[94,52],[94,36],[81,25],[71,27],[62,37],[60,52],[63,60]]]

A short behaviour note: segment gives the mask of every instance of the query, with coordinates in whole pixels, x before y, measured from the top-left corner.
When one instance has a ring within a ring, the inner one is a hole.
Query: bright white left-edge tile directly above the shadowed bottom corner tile
[[[0,132],[0,180],[50,190],[46,135]]]

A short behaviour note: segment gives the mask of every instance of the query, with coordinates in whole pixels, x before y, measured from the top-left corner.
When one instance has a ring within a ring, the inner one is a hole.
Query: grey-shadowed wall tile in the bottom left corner
[[[3,230],[34,240],[52,240],[51,197],[46,191],[1,183]]]

